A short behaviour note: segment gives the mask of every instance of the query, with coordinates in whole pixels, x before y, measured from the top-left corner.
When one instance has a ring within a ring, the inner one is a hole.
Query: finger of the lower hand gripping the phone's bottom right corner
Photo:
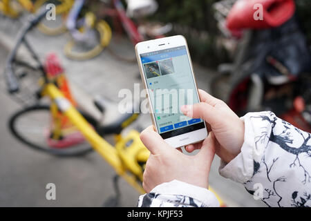
[[[208,162],[211,166],[211,162],[214,160],[215,155],[215,137],[213,132],[210,132],[205,141],[202,143],[199,153],[196,155],[198,162]]]

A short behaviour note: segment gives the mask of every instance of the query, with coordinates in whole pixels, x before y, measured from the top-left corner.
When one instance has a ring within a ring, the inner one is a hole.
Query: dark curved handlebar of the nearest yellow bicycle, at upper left
[[[17,37],[17,43],[15,44],[15,47],[11,50],[10,54],[8,55],[8,60],[6,63],[6,69],[4,71],[5,77],[6,77],[6,84],[8,86],[8,93],[16,93],[19,91],[19,79],[17,75],[15,75],[12,63],[15,60],[15,55],[17,53],[17,50],[19,46],[23,43],[26,33],[30,31],[34,26],[41,21],[41,19],[44,18],[46,13],[49,10],[42,10],[39,12],[39,14],[35,17],[32,17],[29,21],[29,23],[21,30]]]

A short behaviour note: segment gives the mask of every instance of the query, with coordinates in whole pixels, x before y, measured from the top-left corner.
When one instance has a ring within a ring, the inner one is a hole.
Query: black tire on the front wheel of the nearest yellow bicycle
[[[21,143],[26,144],[27,146],[35,149],[36,151],[43,151],[45,153],[49,153],[52,155],[57,156],[77,156],[77,155],[85,155],[86,153],[90,153],[93,151],[93,148],[88,144],[85,143],[82,148],[75,147],[69,147],[69,148],[51,148],[46,144],[46,146],[41,146],[38,144],[35,144],[34,142],[28,140],[28,138],[25,138],[17,129],[17,122],[21,117],[27,117],[27,115],[30,112],[37,112],[36,115],[39,114],[39,111],[46,111],[50,115],[50,106],[48,105],[35,105],[35,106],[28,106],[26,108],[23,108],[20,111],[17,111],[14,115],[12,115],[9,119],[8,126],[10,129],[10,133],[17,138]],[[84,116],[88,122],[92,122],[92,119],[90,117]],[[32,126],[34,126],[32,124]],[[35,125],[37,126],[37,125]],[[28,131],[33,131],[30,125],[27,126]],[[44,135],[42,133],[42,137],[44,138]],[[45,139],[45,138],[44,138]]]

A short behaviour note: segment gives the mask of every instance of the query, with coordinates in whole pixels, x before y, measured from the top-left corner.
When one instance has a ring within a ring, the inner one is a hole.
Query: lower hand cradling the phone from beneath
[[[163,182],[179,180],[208,189],[209,170],[214,159],[213,133],[202,142],[197,155],[185,155],[169,146],[162,137],[149,126],[140,134],[140,140],[151,152],[144,170],[142,186],[149,193]]]

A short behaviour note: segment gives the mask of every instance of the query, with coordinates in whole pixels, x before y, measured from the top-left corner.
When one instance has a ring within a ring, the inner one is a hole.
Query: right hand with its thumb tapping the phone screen
[[[230,162],[241,152],[244,142],[244,122],[220,99],[199,90],[201,102],[186,105],[180,111],[187,117],[201,118],[213,131],[216,154],[225,162]],[[201,148],[202,143],[186,146],[188,152]]]

